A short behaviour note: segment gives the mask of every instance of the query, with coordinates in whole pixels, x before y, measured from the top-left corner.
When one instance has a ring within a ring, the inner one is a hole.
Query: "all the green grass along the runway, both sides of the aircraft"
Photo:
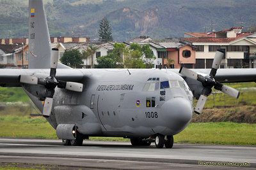
[[[43,117],[1,116],[0,124],[0,137],[58,139],[56,131]],[[90,139],[129,141],[123,138],[92,137]],[[256,124],[191,123],[184,131],[174,136],[174,141],[175,143],[256,145]]]

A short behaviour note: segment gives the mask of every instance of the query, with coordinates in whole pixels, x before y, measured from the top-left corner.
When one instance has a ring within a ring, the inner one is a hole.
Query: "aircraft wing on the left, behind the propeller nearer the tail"
[[[81,69],[57,69],[57,80],[78,82],[85,76]],[[1,87],[20,87],[19,76],[39,76],[46,78],[50,69],[0,69]]]

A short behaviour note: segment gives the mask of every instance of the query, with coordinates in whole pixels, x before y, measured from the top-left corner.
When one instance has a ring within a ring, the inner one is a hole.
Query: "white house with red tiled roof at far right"
[[[218,32],[184,33],[184,40],[196,46],[195,68],[211,68],[216,50],[225,52],[221,68],[256,67],[256,41],[253,33],[242,32],[243,27],[232,27]]]

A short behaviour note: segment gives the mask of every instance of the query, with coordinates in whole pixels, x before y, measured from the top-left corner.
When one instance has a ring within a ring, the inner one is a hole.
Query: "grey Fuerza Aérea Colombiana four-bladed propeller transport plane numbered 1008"
[[[51,49],[42,0],[29,0],[29,69],[1,69],[0,85],[22,87],[63,145],[116,136],[134,146],[154,141],[172,148],[173,135],[191,120],[194,97],[201,113],[212,87],[237,98],[236,89],[221,83],[256,81],[256,69],[218,69],[222,57],[216,52],[211,70],[71,69]]]

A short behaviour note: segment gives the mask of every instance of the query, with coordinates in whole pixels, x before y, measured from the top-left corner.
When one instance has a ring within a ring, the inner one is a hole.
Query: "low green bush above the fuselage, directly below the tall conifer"
[[[115,55],[113,53],[109,53],[108,55],[104,55],[102,57],[97,58],[98,64],[95,65],[95,68],[115,68]]]

